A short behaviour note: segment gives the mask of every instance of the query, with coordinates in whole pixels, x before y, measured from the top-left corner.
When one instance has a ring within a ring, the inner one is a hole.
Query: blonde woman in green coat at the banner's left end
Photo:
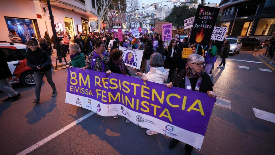
[[[69,46],[69,52],[71,61],[69,62],[69,65],[66,65],[67,68],[72,67],[78,67],[82,68],[86,66],[84,55],[81,53],[81,50],[78,46],[78,44],[73,43]]]

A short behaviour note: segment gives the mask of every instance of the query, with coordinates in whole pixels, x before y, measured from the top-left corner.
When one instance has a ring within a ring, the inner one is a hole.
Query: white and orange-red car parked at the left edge
[[[18,82],[26,86],[36,84],[33,69],[27,66],[27,60],[25,59],[26,45],[0,41],[0,52],[3,52],[7,57],[8,67],[12,73],[12,77],[8,78],[11,84]]]

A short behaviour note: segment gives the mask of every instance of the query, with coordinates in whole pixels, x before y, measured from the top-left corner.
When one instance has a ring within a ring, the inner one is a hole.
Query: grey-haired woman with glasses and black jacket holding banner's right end
[[[204,71],[204,58],[198,54],[191,54],[187,58],[187,67],[176,75],[175,80],[167,84],[168,88],[173,86],[188,89],[192,91],[198,91],[206,93],[209,97],[216,97],[213,92],[213,83],[209,75]],[[179,141],[173,139],[169,143],[169,148],[174,148]],[[191,145],[185,145],[185,154],[191,154],[193,147]]]

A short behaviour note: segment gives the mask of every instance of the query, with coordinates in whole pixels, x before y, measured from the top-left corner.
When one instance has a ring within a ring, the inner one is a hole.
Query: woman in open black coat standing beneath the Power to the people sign
[[[178,60],[181,58],[182,52],[177,46],[177,41],[172,39],[168,47],[166,46],[164,49],[164,55],[166,55],[166,59],[164,61],[164,68],[168,68],[170,82],[173,81],[174,73],[178,65]]]

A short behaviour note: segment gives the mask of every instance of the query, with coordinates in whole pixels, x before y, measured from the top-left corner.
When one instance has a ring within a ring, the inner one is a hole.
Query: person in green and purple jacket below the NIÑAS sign
[[[210,73],[210,70],[212,68],[212,65],[217,60],[217,54],[218,54],[218,48],[216,44],[214,44],[212,47],[209,47],[206,54],[205,54],[205,67],[204,70],[207,74]]]

